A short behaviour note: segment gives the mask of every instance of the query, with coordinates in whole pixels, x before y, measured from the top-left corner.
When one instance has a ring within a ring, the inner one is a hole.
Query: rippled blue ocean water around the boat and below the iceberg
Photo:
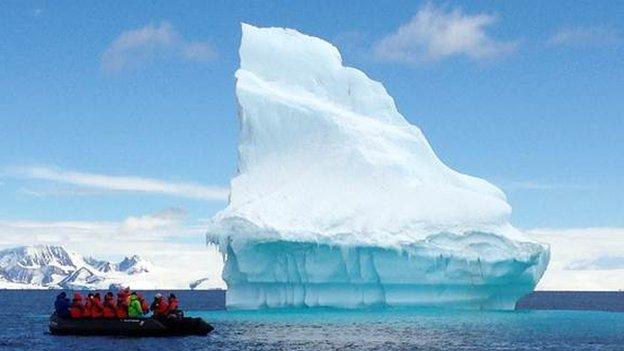
[[[0,350],[624,350],[624,313],[438,309],[225,311],[223,292],[178,292],[206,337],[53,336],[56,292],[0,291]]]

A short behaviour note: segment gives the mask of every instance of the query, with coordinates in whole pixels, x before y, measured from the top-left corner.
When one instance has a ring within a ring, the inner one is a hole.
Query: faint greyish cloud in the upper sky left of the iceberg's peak
[[[102,53],[101,64],[104,70],[117,72],[159,55],[209,61],[216,57],[216,51],[209,43],[185,40],[170,23],[161,22],[122,32]]]

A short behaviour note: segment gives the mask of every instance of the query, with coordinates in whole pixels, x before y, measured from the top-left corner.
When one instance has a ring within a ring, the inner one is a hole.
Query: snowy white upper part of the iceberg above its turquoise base
[[[220,220],[288,240],[385,246],[431,232],[521,236],[503,192],[444,165],[383,85],[344,67],[333,45],[242,28],[240,172]]]

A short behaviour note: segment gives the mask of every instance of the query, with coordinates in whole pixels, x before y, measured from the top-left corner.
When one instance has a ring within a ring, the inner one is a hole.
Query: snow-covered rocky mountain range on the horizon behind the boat
[[[158,267],[139,256],[113,263],[66,250],[62,246],[22,246],[0,251],[0,289],[201,289],[207,278],[177,286],[162,283]]]

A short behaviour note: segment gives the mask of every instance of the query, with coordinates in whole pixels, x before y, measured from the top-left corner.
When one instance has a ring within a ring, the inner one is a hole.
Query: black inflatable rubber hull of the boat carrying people
[[[50,316],[53,335],[207,335],[214,328],[201,318],[71,319]]]

